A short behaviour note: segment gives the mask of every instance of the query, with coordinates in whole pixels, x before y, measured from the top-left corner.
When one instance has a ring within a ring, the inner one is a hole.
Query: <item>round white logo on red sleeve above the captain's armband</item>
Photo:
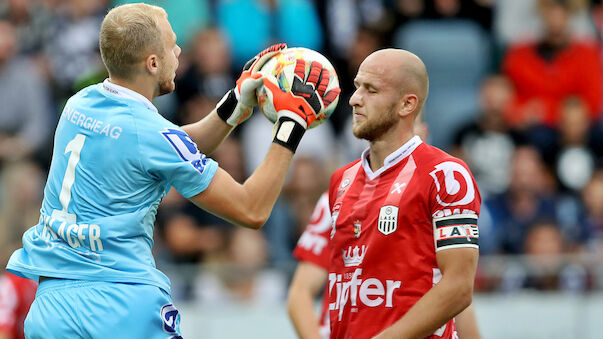
[[[442,175],[437,175],[438,172],[443,173],[443,178]],[[459,173],[464,182],[459,182],[458,179],[460,178],[455,176],[455,173]],[[467,205],[475,198],[475,187],[473,187],[471,175],[461,164],[454,161],[445,161],[436,165],[435,169],[429,175],[431,175],[436,184],[438,190],[436,200],[440,205],[445,207]],[[445,192],[443,192],[443,189]],[[441,195],[441,193],[444,194]],[[457,197],[457,195],[461,194],[462,197]]]

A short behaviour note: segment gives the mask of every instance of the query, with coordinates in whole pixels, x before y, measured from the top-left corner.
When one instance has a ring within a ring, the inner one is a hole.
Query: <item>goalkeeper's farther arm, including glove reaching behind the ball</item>
[[[233,128],[249,119],[253,107],[257,105],[255,91],[263,83],[257,71],[274,54],[286,47],[286,44],[272,45],[247,61],[235,88],[224,95],[216,108],[204,119],[182,126],[201,153],[211,154]]]

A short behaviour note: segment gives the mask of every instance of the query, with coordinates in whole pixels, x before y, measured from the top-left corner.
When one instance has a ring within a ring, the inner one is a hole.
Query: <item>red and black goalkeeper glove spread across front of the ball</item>
[[[288,116],[307,129],[324,111],[341,89],[334,88],[326,92],[329,85],[329,71],[321,63],[313,61],[310,64],[310,72],[305,77],[306,62],[297,59],[291,91],[285,92],[277,84],[264,78],[264,86],[272,93],[272,102],[277,115]],[[326,92],[326,93],[325,93]]]

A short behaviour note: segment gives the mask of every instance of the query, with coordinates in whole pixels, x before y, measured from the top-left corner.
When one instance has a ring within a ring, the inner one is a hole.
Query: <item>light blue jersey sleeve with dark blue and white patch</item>
[[[143,168],[174,187],[185,198],[209,186],[218,163],[199,152],[191,137],[168,123],[146,123],[138,131]]]

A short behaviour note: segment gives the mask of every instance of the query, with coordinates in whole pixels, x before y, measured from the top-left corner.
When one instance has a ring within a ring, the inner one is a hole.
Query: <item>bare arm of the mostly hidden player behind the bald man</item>
[[[318,316],[314,312],[314,298],[324,288],[327,271],[311,262],[297,265],[287,299],[289,317],[301,339],[321,339]]]

